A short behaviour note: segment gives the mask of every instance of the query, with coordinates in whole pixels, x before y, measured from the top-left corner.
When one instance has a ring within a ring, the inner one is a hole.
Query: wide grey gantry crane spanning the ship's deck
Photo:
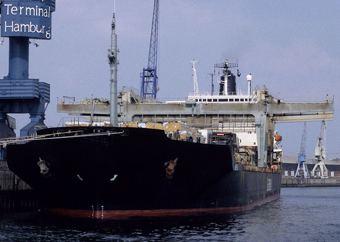
[[[333,119],[334,98],[325,97],[319,101],[284,102],[271,94],[265,87],[256,87],[247,99],[235,95],[220,96],[223,100],[195,98],[190,96],[183,101],[160,103],[157,101],[139,102],[133,90],[121,91],[118,97],[119,122],[167,122],[182,121],[191,127],[213,131],[256,134],[258,165],[272,164],[273,135],[275,123],[328,121]],[[226,99],[225,97],[229,97]],[[215,100],[217,100],[215,102]],[[108,117],[110,104],[68,104],[65,99],[58,101],[57,112],[69,115]]]

